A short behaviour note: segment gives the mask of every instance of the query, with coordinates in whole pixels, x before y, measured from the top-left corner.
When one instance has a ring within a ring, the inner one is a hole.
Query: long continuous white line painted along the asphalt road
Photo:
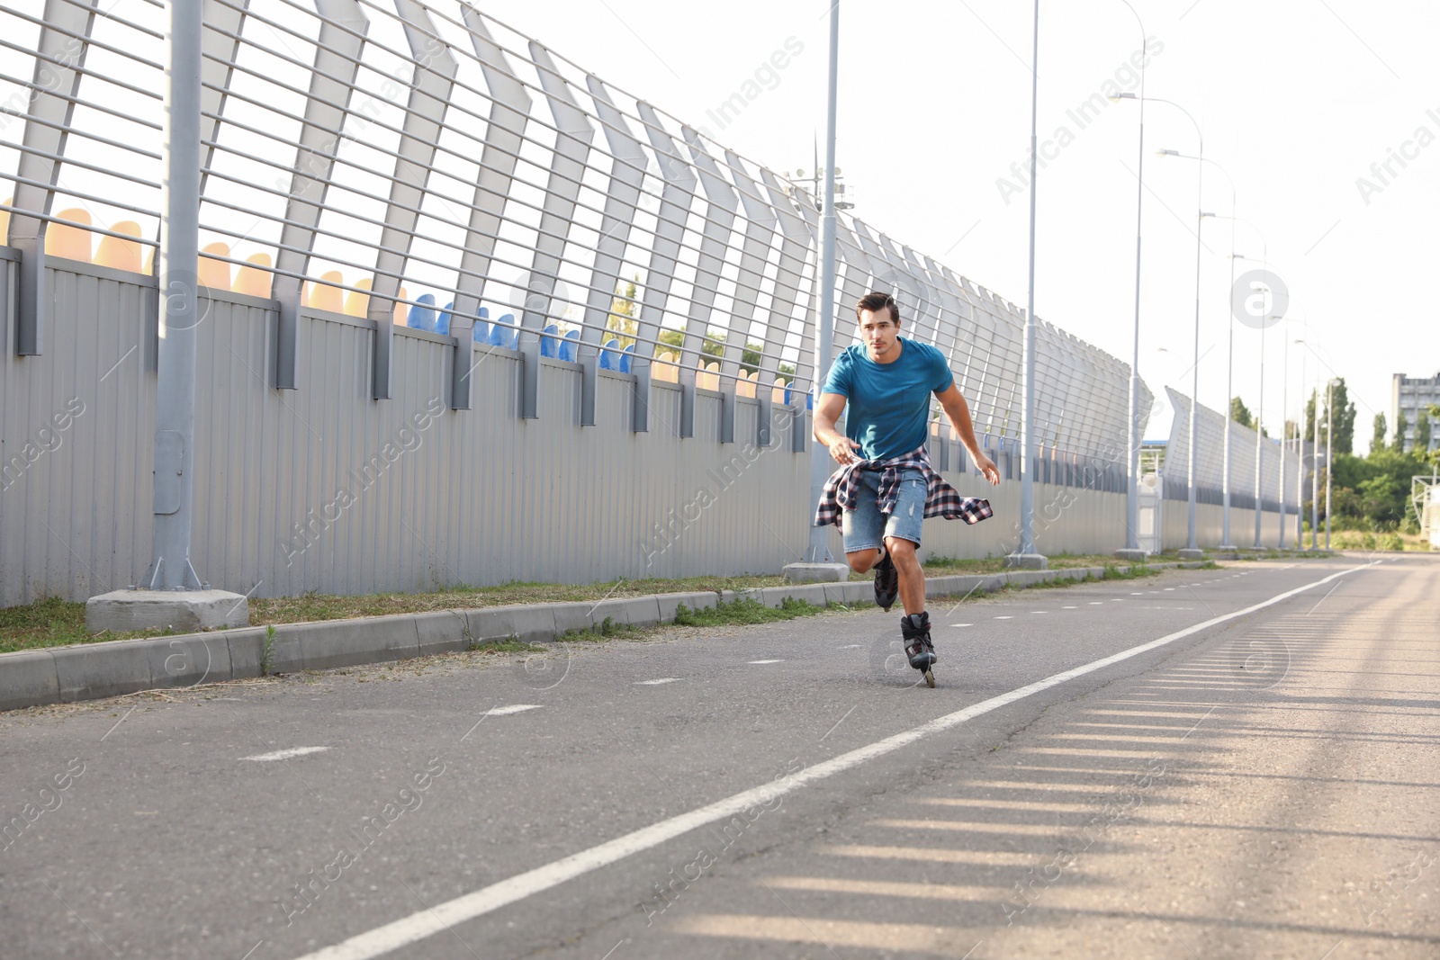
[[[1303,587],[1295,587],[1292,590],[1286,590],[1284,593],[1277,593],[1269,600],[1261,600],[1260,603],[1247,606],[1241,610],[1210,617],[1208,620],[1202,620],[1194,626],[1187,626],[1185,629],[1175,630],[1174,633],[1166,633],[1165,636],[1148,643],[1140,643],[1139,646],[1132,646],[1128,651],[1103,656],[1083,666],[1076,666],[1074,669],[1038,679],[1034,684],[1018,687],[1009,692],[1001,694],[999,697],[991,697],[989,699],[984,699],[978,704],[966,707],[965,710],[958,710],[953,714],[936,717],[926,724],[912,727],[910,730],[894,734],[893,737],[877,740],[876,743],[860,747],[858,750],[851,750],[850,753],[842,753],[831,760],[816,763],[812,767],[805,767],[791,776],[743,790],[734,796],[716,800],[714,803],[696,810],[690,810],[688,813],[681,813],[658,823],[642,826],[638,830],[616,836],[612,841],[579,851],[577,853],[570,853],[569,856],[560,858],[543,866],[536,866],[524,874],[517,874],[508,879],[491,884],[490,887],[482,887],[474,892],[462,894],[461,897],[439,904],[438,907],[431,907],[410,914],[409,917],[393,920],[383,927],[367,930],[366,933],[356,934],[341,943],[315,950],[314,953],[307,953],[302,957],[297,957],[297,960],[370,960],[370,957],[379,957],[408,944],[419,943],[426,937],[445,933],[456,924],[467,923],[475,917],[482,917],[488,913],[500,910],[501,907],[533,897],[534,894],[541,894],[569,879],[583,877],[585,874],[596,871],[602,866],[609,866],[611,864],[622,861],[626,856],[639,853],[641,851],[648,851],[708,823],[724,820],[762,803],[772,803],[778,797],[795,793],[804,786],[825,780],[837,773],[844,773],[845,770],[858,767],[863,763],[894,753],[901,747],[909,747],[910,744],[924,740],[926,737],[933,737],[935,734],[959,727],[975,717],[999,710],[1001,707],[1025,699],[1027,697],[1034,697],[1035,694],[1047,691],[1051,687],[1058,687],[1060,684],[1084,676],[1086,674],[1093,674],[1094,671],[1104,669],[1106,666],[1113,666],[1115,664],[1139,656],[1140,653],[1148,653],[1149,651],[1165,646],[1166,643],[1174,643],[1175,640],[1200,633],[1201,630],[1207,630],[1220,623],[1227,623],[1248,613],[1274,606],[1282,600],[1289,600],[1290,597],[1305,593],[1306,590],[1372,566],[1375,566],[1375,561],[1332,573],[1331,576],[1316,580],[1315,583],[1308,583]]]

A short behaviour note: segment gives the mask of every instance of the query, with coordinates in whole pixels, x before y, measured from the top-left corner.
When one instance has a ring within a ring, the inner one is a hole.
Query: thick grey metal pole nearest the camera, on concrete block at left
[[[200,9],[171,3],[160,225],[154,550],[145,586],[200,589],[190,566],[194,504],[196,268],[200,253]]]

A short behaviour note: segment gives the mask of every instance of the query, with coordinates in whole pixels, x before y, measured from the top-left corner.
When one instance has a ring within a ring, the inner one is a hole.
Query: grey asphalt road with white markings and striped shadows
[[[1440,956],[1440,561],[932,616],[0,715],[0,957]]]

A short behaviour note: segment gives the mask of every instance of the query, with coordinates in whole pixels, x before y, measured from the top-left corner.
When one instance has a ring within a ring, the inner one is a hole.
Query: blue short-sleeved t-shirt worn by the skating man
[[[867,461],[904,456],[930,435],[930,394],[955,383],[945,354],[900,337],[900,357],[876,363],[864,344],[847,347],[829,367],[822,393],[845,397],[845,436]]]

